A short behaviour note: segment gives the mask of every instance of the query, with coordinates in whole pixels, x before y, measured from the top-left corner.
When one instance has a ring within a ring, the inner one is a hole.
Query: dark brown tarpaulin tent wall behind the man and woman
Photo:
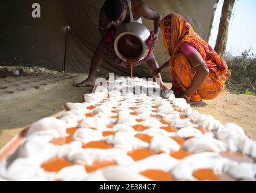
[[[41,17],[33,18],[34,0],[0,1],[0,65],[42,66],[62,70],[65,53],[65,34],[71,27],[67,41],[67,72],[88,72],[91,57],[100,40],[97,29],[99,9],[104,0],[38,0]],[[192,24],[200,36],[208,40],[218,0],[145,0],[162,16],[179,13]],[[143,19],[153,29],[153,22]],[[160,35],[162,36],[162,35]],[[154,50],[157,62],[162,65],[168,54],[159,37]],[[130,69],[120,68],[107,61],[100,66],[100,72],[115,72],[129,75]],[[135,68],[134,75],[151,77],[146,65]],[[169,80],[169,72],[163,74]]]

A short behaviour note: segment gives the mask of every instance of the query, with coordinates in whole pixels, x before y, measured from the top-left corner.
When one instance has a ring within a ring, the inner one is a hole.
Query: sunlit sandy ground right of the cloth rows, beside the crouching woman
[[[167,83],[171,87],[171,83]],[[214,100],[205,100],[205,106],[194,106],[200,113],[212,115],[222,124],[232,122],[244,128],[256,140],[256,96],[234,95],[225,90]]]

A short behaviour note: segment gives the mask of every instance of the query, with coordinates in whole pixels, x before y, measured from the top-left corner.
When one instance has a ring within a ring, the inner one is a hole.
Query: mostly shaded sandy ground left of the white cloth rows
[[[14,77],[15,78],[15,77]],[[92,87],[75,87],[74,83],[84,80],[76,78],[65,84],[57,83],[52,89],[33,98],[9,104],[0,108],[0,148],[7,144],[19,131],[41,118],[61,112],[67,102],[81,102],[80,96],[89,93]]]

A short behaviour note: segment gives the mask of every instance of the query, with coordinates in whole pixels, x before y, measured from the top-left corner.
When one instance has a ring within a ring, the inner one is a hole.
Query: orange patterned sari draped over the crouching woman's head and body
[[[225,81],[231,75],[228,65],[207,42],[194,32],[191,25],[179,14],[169,14],[162,19],[160,27],[163,43],[171,57],[169,64],[172,69],[172,90],[176,97],[188,89],[195,76],[195,69],[186,55],[180,52],[182,43],[190,43],[194,46],[210,71],[206,81],[191,96],[191,100],[210,100],[223,92]]]

